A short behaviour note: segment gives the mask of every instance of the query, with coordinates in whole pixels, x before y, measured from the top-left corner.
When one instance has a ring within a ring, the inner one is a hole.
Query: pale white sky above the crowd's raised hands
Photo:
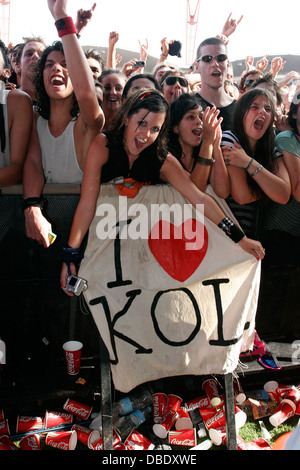
[[[78,9],[90,9],[93,4],[93,0],[69,0],[69,15],[75,19]],[[109,33],[117,31],[117,48],[138,53],[139,41],[148,40],[148,54],[158,57],[160,41],[167,37],[182,43],[182,58],[172,60],[176,65],[185,65],[186,50],[193,49],[193,41],[186,39],[188,5],[191,14],[198,5],[197,25],[188,30],[195,37],[196,47],[203,39],[221,32],[231,13],[232,18],[243,15],[243,19],[230,37],[230,60],[244,60],[247,55],[300,55],[299,0],[289,0],[286,8],[278,0],[96,0],[96,4],[92,21],[80,39],[83,46],[106,47]],[[2,15],[3,8],[7,12],[8,7],[0,7]],[[37,35],[46,43],[57,39],[47,0],[10,0],[10,41],[17,44],[23,37]]]

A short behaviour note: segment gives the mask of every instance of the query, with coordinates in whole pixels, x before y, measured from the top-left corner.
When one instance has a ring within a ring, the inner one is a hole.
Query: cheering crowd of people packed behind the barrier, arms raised
[[[266,57],[254,64],[248,56],[234,77],[227,43],[242,17],[229,15],[219,35],[203,40],[189,70],[171,64],[174,41],[163,38],[157,65],[146,73],[147,43],[123,65],[116,32],[106,61],[96,49],[84,51],[80,36],[96,4],[79,10],[75,23],[66,0],[48,0],[48,7],[57,41],[1,43],[0,187],[22,183],[27,236],[47,248],[44,184],[81,184],[62,286],[76,273],[101,183],[120,176],[168,183],[192,204],[203,203],[205,215],[258,259],[266,233],[299,253],[300,75],[279,78],[280,57],[266,72]],[[240,227],[205,192],[208,184]]]

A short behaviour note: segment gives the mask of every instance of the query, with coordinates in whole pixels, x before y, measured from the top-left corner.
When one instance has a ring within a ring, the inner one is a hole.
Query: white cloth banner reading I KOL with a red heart
[[[121,392],[233,372],[252,346],[260,262],[169,185],[101,186],[79,276]]]

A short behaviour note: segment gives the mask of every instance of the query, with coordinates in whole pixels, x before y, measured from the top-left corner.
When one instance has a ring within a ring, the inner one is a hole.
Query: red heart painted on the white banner
[[[205,225],[188,219],[179,226],[160,220],[152,228],[149,248],[160,266],[177,281],[188,279],[202,263],[208,246]],[[194,249],[190,249],[194,244]]]

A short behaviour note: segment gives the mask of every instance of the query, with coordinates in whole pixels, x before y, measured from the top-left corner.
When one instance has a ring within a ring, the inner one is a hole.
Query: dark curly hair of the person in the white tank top
[[[50,99],[45,89],[43,73],[47,57],[52,51],[58,51],[64,55],[62,42],[55,41],[51,46],[46,47],[46,49],[43,51],[43,54],[37,63],[37,70],[34,80],[36,91],[36,110],[45,119],[50,118]],[[73,118],[77,117],[79,114],[79,106],[75,93],[73,93],[73,106],[70,110],[70,114]]]

